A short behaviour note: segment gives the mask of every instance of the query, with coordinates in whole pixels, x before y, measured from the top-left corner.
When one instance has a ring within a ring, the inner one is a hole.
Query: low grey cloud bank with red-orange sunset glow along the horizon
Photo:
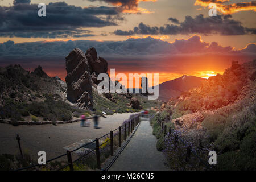
[[[185,74],[198,76],[201,71],[223,72],[231,60],[251,61],[256,56],[256,44],[234,50],[216,42],[203,42],[200,36],[176,39],[172,43],[150,37],[118,42],[69,40],[15,44],[7,41],[0,44],[0,67],[21,64],[31,70],[42,65],[50,76],[58,75],[65,80],[65,56],[76,47],[82,51],[95,47],[98,56],[108,60],[109,69],[115,68],[116,73],[161,73],[160,82]]]

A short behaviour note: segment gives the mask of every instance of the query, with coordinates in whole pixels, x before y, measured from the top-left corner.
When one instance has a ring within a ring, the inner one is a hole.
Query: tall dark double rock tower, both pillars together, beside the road
[[[108,63],[102,57],[97,57],[95,48],[90,48],[86,54],[79,48],[73,49],[66,57],[67,99],[83,109],[93,109],[93,86],[100,81],[100,73],[108,73]]]

